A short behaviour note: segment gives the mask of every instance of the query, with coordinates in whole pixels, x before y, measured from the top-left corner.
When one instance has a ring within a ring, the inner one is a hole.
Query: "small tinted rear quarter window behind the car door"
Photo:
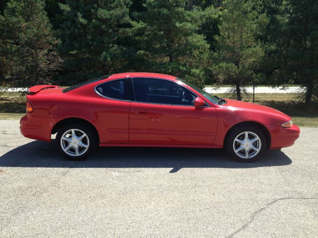
[[[124,79],[105,82],[96,87],[96,91],[108,98],[126,99]]]

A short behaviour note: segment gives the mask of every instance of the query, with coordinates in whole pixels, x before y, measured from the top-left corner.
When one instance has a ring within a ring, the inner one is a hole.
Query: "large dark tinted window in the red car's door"
[[[164,79],[133,78],[137,102],[192,106],[196,95],[185,87]]]

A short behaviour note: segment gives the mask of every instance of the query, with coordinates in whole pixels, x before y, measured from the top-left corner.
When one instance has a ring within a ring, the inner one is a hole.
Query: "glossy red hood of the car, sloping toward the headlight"
[[[286,117],[286,119],[291,119],[291,117],[287,116],[286,114],[270,107],[266,107],[263,105],[255,104],[255,103],[247,103],[238,100],[226,99],[227,103],[223,105],[224,107],[233,108],[235,110],[248,110],[248,111],[259,111],[259,112],[266,112],[271,114],[277,114],[279,116]]]

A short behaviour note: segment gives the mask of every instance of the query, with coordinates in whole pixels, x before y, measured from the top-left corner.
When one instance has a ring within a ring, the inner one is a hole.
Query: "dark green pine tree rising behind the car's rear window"
[[[66,0],[60,4],[61,54],[71,83],[98,74],[129,70],[131,19],[129,0]]]

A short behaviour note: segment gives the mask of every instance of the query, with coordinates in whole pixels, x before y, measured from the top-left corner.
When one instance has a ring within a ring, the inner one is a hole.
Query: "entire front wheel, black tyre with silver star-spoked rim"
[[[245,140],[246,133],[248,140]],[[254,162],[266,150],[266,138],[264,133],[255,126],[237,126],[231,129],[225,142],[225,149],[239,162]]]

